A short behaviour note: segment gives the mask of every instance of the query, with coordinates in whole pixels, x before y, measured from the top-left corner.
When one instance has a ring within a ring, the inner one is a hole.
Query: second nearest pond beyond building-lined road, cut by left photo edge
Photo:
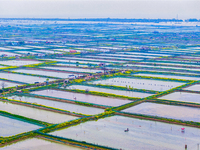
[[[5,78],[8,80],[19,81],[22,83],[35,83],[35,82],[44,82],[47,78],[15,74],[15,73],[3,73],[0,72],[0,78]],[[53,81],[55,79],[49,79],[49,81]]]

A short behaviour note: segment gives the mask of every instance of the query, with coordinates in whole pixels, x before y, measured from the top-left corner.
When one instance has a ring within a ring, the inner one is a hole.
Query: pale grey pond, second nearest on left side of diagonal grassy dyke
[[[4,102],[0,102],[0,110],[48,123],[62,123],[77,118],[75,116]]]

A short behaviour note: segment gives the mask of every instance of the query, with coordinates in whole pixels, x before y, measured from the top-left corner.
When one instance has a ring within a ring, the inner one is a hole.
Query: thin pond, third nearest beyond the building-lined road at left
[[[57,77],[57,78],[68,78],[69,75],[72,75],[70,73],[63,73],[63,72],[56,72],[56,71],[29,70],[29,69],[17,69],[13,71],[21,72],[21,73],[30,73],[30,74],[35,74],[35,75],[42,75],[42,76]],[[73,75],[77,75],[77,74],[73,73]]]

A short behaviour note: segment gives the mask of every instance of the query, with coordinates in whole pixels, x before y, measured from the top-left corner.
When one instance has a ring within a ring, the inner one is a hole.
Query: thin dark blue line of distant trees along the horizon
[[[120,19],[120,18],[80,18],[80,19],[61,19],[61,18],[0,18],[0,20],[43,20],[43,21],[103,21],[103,22],[183,22],[182,19]],[[200,19],[190,18],[186,22],[200,22]]]

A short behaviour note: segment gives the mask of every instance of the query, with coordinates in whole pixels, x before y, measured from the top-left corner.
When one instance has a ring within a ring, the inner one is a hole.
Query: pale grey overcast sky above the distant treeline
[[[197,18],[200,0],[0,0],[0,17]]]

